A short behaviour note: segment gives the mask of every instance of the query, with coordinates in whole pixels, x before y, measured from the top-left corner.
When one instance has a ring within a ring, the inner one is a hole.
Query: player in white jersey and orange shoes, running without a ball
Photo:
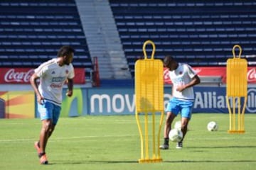
[[[71,62],[73,61],[74,52],[75,50],[70,46],[61,47],[57,57],[41,64],[35,69],[30,79],[31,86],[36,92],[38,113],[40,113],[42,122],[39,141],[35,142],[41,164],[48,164],[46,144],[60,116],[62,91],[65,82],[68,84],[66,95],[69,97],[73,95],[75,74]],[[40,79],[39,86],[37,79]]]

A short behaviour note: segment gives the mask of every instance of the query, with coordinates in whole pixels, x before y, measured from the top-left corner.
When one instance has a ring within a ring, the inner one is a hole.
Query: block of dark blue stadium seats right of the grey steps
[[[110,0],[131,70],[148,39],[156,44],[156,57],[174,55],[194,66],[225,63],[235,44],[242,46],[243,54],[255,54],[256,3],[252,0],[137,0],[132,4]]]

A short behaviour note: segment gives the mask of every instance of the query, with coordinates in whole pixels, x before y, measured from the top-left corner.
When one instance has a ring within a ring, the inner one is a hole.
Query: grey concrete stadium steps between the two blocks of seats
[[[90,55],[98,58],[100,79],[131,79],[108,1],[76,0]]]

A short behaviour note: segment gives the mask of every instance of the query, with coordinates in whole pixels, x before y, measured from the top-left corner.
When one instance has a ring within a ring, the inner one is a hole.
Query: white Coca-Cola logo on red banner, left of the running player
[[[4,75],[4,81],[11,82],[24,82],[27,83],[33,74],[33,69],[28,70],[27,72],[16,72],[15,69],[9,69],[8,72]]]

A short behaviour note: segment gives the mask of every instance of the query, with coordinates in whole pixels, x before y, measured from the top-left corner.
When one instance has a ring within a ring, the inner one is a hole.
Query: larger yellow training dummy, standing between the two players
[[[146,55],[146,45],[151,45],[153,48],[150,59]],[[159,145],[161,125],[164,118],[164,66],[161,60],[154,60],[155,49],[154,42],[151,40],[144,42],[144,60],[137,60],[135,63],[135,116],[141,140],[139,163],[162,162]],[[158,127],[155,125],[156,113],[161,114]],[[142,116],[139,115],[144,115],[144,128],[142,128],[139,120],[139,117]],[[149,121],[149,118],[152,118],[152,122]],[[151,133],[149,134],[149,132]],[[151,140],[149,137],[152,137]],[[149,151],[152,151],[152,154]]]

